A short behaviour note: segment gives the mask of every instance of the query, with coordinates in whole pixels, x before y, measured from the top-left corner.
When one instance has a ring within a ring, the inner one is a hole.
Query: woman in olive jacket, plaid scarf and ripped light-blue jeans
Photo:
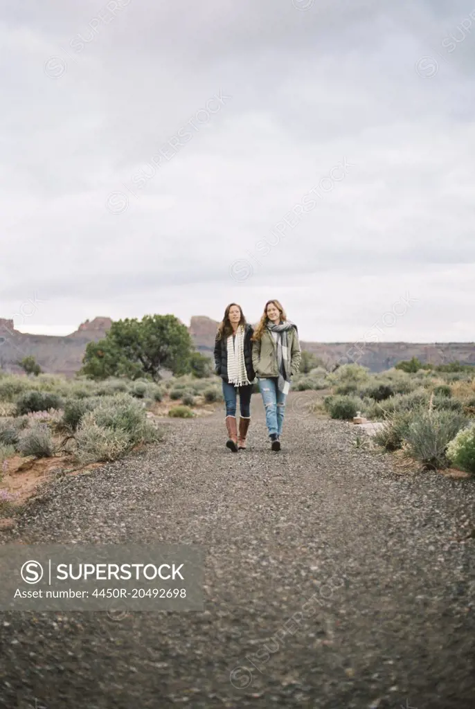
[[[271,447],[277,451],[291,377],[302,358],[297,326],[287,320],[279,301],[267,301],[252,340],[252,366],[259,378]]]

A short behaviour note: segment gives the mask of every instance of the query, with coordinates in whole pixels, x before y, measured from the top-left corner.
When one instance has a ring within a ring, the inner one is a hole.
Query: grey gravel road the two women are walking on
[[[206,610],[0,613],[1,707],[474,709],[475,481],[396,473],[301,401],[280,453],[253,396],[246,452],[221,410],[165,420],[31,503],[0,543],[202,545]]]

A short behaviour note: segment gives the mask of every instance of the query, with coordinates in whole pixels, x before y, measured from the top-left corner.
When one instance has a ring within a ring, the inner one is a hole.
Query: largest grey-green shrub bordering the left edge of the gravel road
[[[116,460],[138,443],[157,439],[139,401],[121,393],[103,398],[82,417],[76,433],[77,457],[82,462]]]

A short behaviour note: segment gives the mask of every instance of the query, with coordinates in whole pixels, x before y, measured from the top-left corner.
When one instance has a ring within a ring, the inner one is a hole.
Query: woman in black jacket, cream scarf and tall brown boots
[[[252,382],[255,372],[252,368],[251,337],[254,330],[247,325],[240,306],[230,303],[225,309],[223,321],[218,327],[214,346],[216,374],[223,379],[223,395],[226,403],[226,446],[233,452],[245,450],[247,429],[250,424],[250,403]],[[236,403],[239,392],[241,417],[236,422]]]

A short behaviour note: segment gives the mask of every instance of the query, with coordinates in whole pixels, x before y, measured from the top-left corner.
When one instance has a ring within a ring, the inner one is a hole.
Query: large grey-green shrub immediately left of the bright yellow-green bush
[[[408,426],[406,452],[426,469],[445,468],[447,445],[466,423],[458,411],[423,411]]]

